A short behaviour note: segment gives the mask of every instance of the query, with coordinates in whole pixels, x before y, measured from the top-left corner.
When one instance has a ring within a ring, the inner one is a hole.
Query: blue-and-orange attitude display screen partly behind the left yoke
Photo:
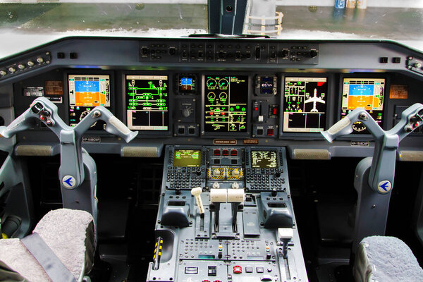
[[[110,109],[110,75],[68,75],[69,125],[75,126],[96,106]],[[102,130],[97,121],[90,129]]]

